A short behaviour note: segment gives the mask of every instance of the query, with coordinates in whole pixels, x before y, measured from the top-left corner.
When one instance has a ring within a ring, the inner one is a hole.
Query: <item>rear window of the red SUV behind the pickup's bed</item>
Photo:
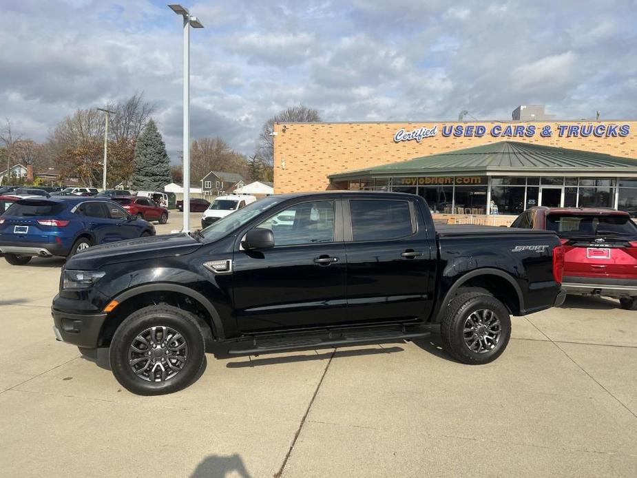
[[[581,215],[549,214],[546,229],[558,236],[576,238],[579,236],[637,236],[637,226],[628,215]]]

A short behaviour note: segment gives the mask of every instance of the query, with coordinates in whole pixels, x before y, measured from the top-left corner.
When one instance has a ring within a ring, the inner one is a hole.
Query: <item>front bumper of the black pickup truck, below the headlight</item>
[[[95,348],[106,313],[77,314],[51,309],[56,340],[79,347]]]

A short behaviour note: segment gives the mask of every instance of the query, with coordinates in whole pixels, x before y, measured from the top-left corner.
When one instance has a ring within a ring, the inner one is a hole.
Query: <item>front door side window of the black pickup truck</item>
[[[316,244],[334,240],[334,201],[302,202],[264,220],[275,246]]]

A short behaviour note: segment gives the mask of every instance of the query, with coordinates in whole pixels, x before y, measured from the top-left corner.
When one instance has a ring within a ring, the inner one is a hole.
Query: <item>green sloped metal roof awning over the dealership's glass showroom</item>
[[[422,174],[528,174],[542,173],[590,174],[623,176],[637,174],[637,159],[620,158],[610,154],[499,141],[488,145],[430,154],[400,163],[331,174],[331,180],[346,180],[363,176],[384,177]]]

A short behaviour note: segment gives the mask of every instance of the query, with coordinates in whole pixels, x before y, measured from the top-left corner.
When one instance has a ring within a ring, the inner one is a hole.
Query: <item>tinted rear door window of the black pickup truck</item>
[[[390,240],[411,236],[409,203],[401,200],[350,200],[353,240]]]

